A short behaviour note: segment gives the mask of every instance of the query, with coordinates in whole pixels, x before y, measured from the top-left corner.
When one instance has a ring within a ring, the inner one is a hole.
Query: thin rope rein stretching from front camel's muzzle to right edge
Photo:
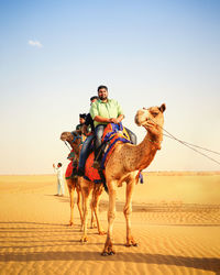
[[[209,158],[210,161],[212,161],[212,162],[215,162],[215,163],[217,163],[217,164],[220,165],[220,162],[218,162],[218,161],[216,161],[215,158],[212,158],[212,157],[210,157],[210,156],[208,156],[208,155],[201,153],[200,151],[198,151],[198,150],[196,150],[196,148],[194,148],[194,147],[201,148],[201,150],[205,150],[205,151],[208,151],[208,152],[218,154],[218,155],[220,155],[220,153],[215,152],[215,151],[212,151],[212,150],[208,150],[208,148],[198,146],[198,145],[195,145],[195,144],[191,144],[191,143],[188,143],[188,142],[185,142],[185,141],[182,141],[182,140],[175,138],[175,136],[174,136],[173,134],[170,134],[168,131],[166,131],[163,127],[161,127],[158,123],[156,123],[153,119],[150,119],[150,120],[152,120],[156,125],[158,125],[164,132],[166,132],[166,133],[168,134],[168,135],[167,135],[167,134],[164,134],[165,136],[167,136],[167,138],[169,138],[169,139],[173,139],[173,140],[177,141],[177,142],[182,143],[183,145],[187,146],[188,148],[190,148],[190,150],[197,152],[198,154],[200,154],[200,155],[202,155],[202,156]],[[194,146],[194,147],[193,147],[193,146]]]

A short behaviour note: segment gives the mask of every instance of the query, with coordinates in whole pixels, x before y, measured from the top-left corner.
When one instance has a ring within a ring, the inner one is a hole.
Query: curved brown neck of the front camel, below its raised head
[[[135,157],[133,158],[132,163],[130,162],[129,168],[131,170],[141,170],[146,168],[154,160],[157,150],[161,148],[162,140],[162,132],[158,132],[156,135],[147,133],[144,140],[139,145],[132,147],[132,150],[134,151],[133,155]]]

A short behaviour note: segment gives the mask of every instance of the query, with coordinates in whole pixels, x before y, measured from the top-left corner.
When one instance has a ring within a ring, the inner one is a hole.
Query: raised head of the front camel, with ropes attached
[[[165,103],[161,107],[143,108],[136,112],[135,123],[139,127],[144,127],[148,132],[156,134],[164,124],[164,111],[166,110]]]

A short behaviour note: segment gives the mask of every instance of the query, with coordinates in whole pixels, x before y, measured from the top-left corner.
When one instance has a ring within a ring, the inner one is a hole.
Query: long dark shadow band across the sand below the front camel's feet
[[[124,262],[124,263],[145,263],[157,265],[175,265],[184,267],[193,267],[196,270],[219,272],[220,258],[217,257],[188,257],[188,256],[174,256],[163,254],[150,253],[117,253],[113,256],[101,256],[97,252],[73,252],[73,251],[58,251],[58,252],[30,252],[30,253],[1,253],[0,262],[37,262],[37,261],[105,261],[105,262]]]

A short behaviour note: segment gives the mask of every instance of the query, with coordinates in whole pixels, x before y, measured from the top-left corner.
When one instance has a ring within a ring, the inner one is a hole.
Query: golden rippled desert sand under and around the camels
[[[66,187],[65,187],[66,188]],[[125,248],[124,186],[118,188],[116,255],[89,229],[80,243],[77,207],[56,197],[55,175],[0,176],[0,274],[220,274],[220,173],[144,173],[133,196],[138,248]],[[108,195],[100,202],[107,230]]]

